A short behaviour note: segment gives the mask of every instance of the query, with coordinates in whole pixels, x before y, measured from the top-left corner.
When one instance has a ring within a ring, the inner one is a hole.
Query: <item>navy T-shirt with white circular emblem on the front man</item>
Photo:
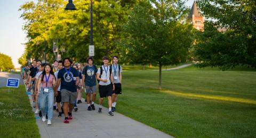
[[[68,73],[69,71],[69,73]],[[77,77],[78,73],[75,68],[62,68],[58,73],[58,79],[61,79],[60,90],[66,89],[71,92],[76,92],[76,81],[74,77]]]

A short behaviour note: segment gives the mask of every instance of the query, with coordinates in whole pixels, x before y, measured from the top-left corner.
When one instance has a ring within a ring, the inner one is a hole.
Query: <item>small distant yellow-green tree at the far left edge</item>
[[[0,53],[0,70],[9,71],[10,69],[14,69],[12,58],[10,56]]]

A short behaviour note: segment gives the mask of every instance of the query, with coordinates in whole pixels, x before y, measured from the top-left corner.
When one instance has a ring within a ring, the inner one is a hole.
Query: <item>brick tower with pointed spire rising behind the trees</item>
[[[193,23],[193,27],[197,30],[204,30],[204,17],[203,15],[199,12],[196,2],[194,2],[191,12],[189,14],[189,18],[191,18],[191,21]]]

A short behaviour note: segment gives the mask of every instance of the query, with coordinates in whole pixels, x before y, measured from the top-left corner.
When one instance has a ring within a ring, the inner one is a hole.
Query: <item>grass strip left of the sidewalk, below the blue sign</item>
[[[0,137],[40,137],[24,85],[0,87]]]

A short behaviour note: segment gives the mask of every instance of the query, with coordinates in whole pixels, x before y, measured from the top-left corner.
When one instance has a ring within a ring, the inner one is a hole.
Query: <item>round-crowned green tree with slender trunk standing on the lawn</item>
[[[162,66],[186,62],[193,40],[188,9],[182,1],[140,1],[125,26],[125,52],[132,63],[159,66],[162,89]]]

